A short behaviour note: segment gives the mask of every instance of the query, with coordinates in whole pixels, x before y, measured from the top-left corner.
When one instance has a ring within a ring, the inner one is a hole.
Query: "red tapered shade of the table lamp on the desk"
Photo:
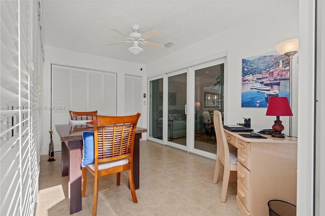
[[[287,97],[271,97],[267,116],[293,116]]]

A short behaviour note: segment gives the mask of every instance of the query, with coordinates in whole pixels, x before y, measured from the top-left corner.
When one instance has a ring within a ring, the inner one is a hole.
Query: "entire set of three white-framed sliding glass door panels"
[[[225,60],[149,79],[149,140],[215,159],[213,111],[223,118]]]

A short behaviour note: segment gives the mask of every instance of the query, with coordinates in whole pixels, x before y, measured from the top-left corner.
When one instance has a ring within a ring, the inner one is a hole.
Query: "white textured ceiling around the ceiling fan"
[[[147,64],[289,2],[41,0],[44,45]],[[129,43],[106,46],[126,39],[110,28],[128,34],[134,24],[140,33],[160,33],[147,41],[175,45],[164,50],[140,45],[144,51],[138,55],[128,52]]]

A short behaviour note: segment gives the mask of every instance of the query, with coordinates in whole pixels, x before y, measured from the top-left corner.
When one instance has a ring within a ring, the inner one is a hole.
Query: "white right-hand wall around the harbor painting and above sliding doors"
[[[242,59],[270,52],[285,40],[298,38],[298,2],[292,2],[288,8],[279,5],[276,11],[270,11],[263,17],[225,30],[214,37],[193,44],[163,59],[147,64],[147,77],[169,73],[178,68],[191,66],[200,62],[220,57],[226,53],[228,71],[225,71],[228,95],[225,95],[225,123],[242,122],[242,117],[251,118],[254,130],[271,128],[275,117],[265,116],[266,108],[241,107],[241,75]],[[175,45],[177,46],[177,45]],[[293,135],[297,136],[298,114],[298,65],[296,54],[293,59]],[[168,63],[167,63],[168,62]],[[227,82],[228,81],[228,82]],[[285,127],[284,133],[289,134],[288,117],[280,117]]]

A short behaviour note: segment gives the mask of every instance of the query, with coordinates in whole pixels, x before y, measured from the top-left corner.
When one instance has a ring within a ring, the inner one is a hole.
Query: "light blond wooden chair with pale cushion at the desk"
[[[225,202],[227,195],[230,171],[237,171],[237,152],[230,152],[222,125],[222,116],[219,111],[213,111],[214,129],[217,139],[217,159],[214,169],[213,183],[218,182],[220,165],[223,165],[223,178],[221,188],[221,202]]]

